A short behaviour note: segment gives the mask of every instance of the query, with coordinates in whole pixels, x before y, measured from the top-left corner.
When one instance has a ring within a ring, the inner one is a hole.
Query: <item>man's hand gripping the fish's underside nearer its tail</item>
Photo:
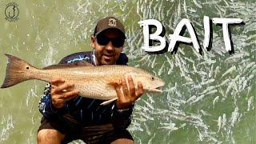
[[[54,78],[51,82],[51,102],[54,107],[61,108],[66,101],[78,96],[78,90],[74,88],[74,83],[65,82],[62,78]]]

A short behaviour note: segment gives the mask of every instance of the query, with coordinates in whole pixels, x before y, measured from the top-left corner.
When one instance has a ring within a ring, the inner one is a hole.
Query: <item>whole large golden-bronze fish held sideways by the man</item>
[[[6,66],[6,78],[1,88],[14,86],[30,79],[38,79],[51,82],[54,78],[62,78],[66,82],[74,83],[74,88],[79,90],[79,95],[86,98],[110,100],[117,98],[114,83],[119,83],[122,77],[130,75],[137,88],[138,81],[142,82],[145,93],[162,92],[158,87],[164,86],[162,79],[155,77],[145,70],[131,66],[105,65],[93,66],[88,62],[72,64],[60,64],[46,66],[38,69],[26,61],[6,54],[8,64]],[[127,85],[129,86],[129,85]]]

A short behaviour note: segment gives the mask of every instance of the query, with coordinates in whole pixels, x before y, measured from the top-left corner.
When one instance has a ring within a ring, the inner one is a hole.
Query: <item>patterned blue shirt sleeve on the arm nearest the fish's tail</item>
[[[51,102],[51,96],[50,96],[50,83],[47,83],[43,96],[39,101],[38,109],[40,113],[45,117],[53,116],[54,114],[60,114],[64,110],[63,108],[56,109]]]

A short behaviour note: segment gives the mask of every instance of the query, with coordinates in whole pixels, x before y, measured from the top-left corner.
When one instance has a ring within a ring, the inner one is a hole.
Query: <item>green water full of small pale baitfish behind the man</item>
[[[9,2],[18,4],[16,22],[5,19]],[[3,54],[16,55],[34,66],[49,66],[67,54],[91,50],[95,22],[114,15],[126,26],[124,51],[130,65],[166,81],[163,94],[145,94],[136,103],[129,127],[135,143],[255,143],[255,7],[252,0],[2,0],[0,81],[6,69]],[[204,15],[246,22],[231,29],[234,54],[226,53],[221,26],[213,26],[212,50],[204,56],[184,44],[175,55],[149,55],[142,50],[140,20],[157,19],[167,36],[182,18],[189,18],[202,44]],[[0,90],[0,143],[36,143],[41,118],[38,101],[45,84],[28,81]]]

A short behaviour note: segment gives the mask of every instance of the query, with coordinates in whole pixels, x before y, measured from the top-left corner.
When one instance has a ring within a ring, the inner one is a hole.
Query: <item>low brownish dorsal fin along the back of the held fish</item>
[[[67,64],[58,64],[58,65],[51,65],[51,66],[46,66],[42,68],[43,70],[51,70],[51,69],[66,69],[70,67],[78,67],[78,66],[94,66],[90,64],[89,62],[72,62],[72,63],[67,63]]]

